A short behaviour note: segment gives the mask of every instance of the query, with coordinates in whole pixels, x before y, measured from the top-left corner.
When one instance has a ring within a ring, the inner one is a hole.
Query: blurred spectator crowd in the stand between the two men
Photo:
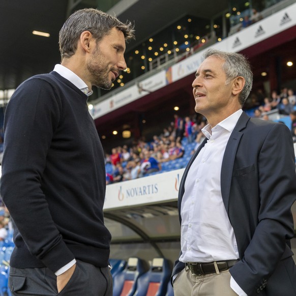
[[[188,144],[195,142],[196,149],[203,138],[201,129],[205,125],[204,117],[199,114],[184,119],[175,114],[171,124],[151,141],[140,139],[131,147],[114,147],[111,154],[105,154],[106,183],[133,180],[161,171],[164,162],[184,156],[183,138]]]

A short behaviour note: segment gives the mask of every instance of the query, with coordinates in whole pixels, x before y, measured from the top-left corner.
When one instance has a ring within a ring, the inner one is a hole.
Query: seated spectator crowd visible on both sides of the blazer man
[[[296,141],[296,97],[291,88],[284,87],[279,94],[273,91],[270,97],[259,90],[246,103],[246,108],[253,110],[251,116],[262,120],[269,120],[269,111],[275,109],[283,116],[290,116],[290,129]],[[186,146],[182,143],[194,142],[193,153],[204,138],[201,129],[206,124],[200,114],[184,118],[175,114],[173,121],[160,135],[154,135],[151,141],[140,139],[130,147],[114,147],[110,154],[105,154],[106,183],[133,180],[161,171],[164,162],[184,156]]]

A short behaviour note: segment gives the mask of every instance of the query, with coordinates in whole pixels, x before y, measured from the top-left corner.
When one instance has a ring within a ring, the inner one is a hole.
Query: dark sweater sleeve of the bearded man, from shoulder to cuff
[[[53,272],[74,259],[52,220],[41,186],[61,110],[45,80],[29,79],[18,87],[5,114],[1,178],[2,198],[29,252]]]

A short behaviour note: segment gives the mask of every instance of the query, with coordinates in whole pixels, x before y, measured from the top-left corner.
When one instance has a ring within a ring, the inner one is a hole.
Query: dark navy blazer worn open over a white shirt
[[[180,209],[189,161],[179,190]],[[238,244],[240,261],[230,273],[249,295],[296,295],[291,257],[291,205],[296,199],[295,156],[284,124],[250,119],[243,112],[228,140],[221,168],[221,192]],[[185,268],[175,261],[172,275]]]

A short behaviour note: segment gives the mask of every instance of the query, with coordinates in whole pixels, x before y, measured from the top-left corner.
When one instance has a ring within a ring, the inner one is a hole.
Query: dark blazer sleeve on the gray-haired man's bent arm
[[[296,173],[291,133],[285,125],[274,124],[262,137],[255,164],[258,184],[249,184],[258,187],[257,226],[243,258],[230,269],[248,295],[268,285],[287,249],[286,240],[294,234],[291,205],[296,199]]]

